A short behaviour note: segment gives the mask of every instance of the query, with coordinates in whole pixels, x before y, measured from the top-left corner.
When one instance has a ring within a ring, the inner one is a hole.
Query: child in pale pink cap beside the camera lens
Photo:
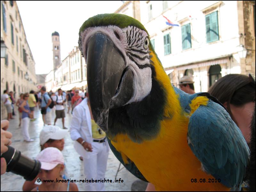
[[[60,150],[47,147],[36,156],[36,159],[41,162],[38,177],[42,184],[32,191],[78,191],[76,183],[57,182],[57,180],[63,180],[64,170],[64,157]],[[53,180],[53,182],[44,182],[44,180]]]

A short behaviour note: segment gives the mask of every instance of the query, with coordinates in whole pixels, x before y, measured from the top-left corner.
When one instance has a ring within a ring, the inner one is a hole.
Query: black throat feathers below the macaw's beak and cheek
[[[155,67],[152,70],[152,89],[142,101],[110,109],[108,116],[108,137],[114,140],[116,134],[127,134],[133,142],[156,138],[163,119],[166,94],[156,81]],[[115,141],[115,140],[114,140]]]

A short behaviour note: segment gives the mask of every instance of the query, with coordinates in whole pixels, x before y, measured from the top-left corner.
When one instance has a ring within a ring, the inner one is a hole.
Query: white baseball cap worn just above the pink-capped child
[[[40,132],[40,145],[44,145],[49,139],[60,140],[63,139],[68,133],[67,129],[61,129],[58,126],[46,125]]]

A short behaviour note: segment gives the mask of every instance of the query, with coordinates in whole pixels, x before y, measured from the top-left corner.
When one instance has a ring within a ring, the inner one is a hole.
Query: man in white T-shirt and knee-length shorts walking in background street
[[[56,114],[56,118],[54,119],[54,125],[57,121],[57,119],[62,118],[62,125],[63,125],[63,129],[67,129],[67,127],[64,126],[64,121],[65,121],[65,108],[64,108],[64,103],[65,103],[65,98],[62,95],[62,90],[58,89],[58,95],[56,95],[55,99],[53,100],[56,110],[55,110],[55,114]]]

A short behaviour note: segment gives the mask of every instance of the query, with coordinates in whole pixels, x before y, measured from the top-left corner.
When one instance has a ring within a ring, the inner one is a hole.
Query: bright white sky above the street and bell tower
[[[52,69],[52,33],[60,34],[61,60],[78,46],[78,32],[85,20],[113,13],[122,1],[17,1],[28,45],[36,62],[36,74]]]

